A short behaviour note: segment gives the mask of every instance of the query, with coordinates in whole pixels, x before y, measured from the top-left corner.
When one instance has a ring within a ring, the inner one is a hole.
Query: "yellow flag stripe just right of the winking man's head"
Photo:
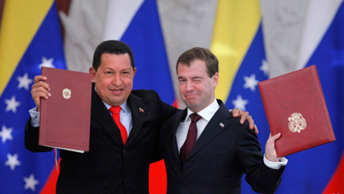
[[[216,98],[227,100],[260,23],[259,0],[219,0],[211,51],[219,60]]]

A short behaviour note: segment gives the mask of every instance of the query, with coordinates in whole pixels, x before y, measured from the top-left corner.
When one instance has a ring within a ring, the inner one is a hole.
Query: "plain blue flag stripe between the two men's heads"
[[[134,53],[137,72],[133,89],[153,89],[163,101],[173,104],[175,97],[172,79],[154,0],[142,3],[121,40]]]

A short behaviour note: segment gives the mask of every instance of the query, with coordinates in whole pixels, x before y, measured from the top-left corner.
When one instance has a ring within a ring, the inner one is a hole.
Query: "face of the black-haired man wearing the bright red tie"
[[[130,65],[129,54],[104,53],[97,71],[89,69],[98,96],[111,106],[123,104],[132,90],[136,68]]]

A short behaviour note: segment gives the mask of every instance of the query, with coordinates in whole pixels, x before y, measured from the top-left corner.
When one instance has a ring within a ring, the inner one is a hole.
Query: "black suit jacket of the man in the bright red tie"
[[[92,89],[89,152],[60,150],[57,193],[148,193],[149,165],[160,159],[153,157],[159,130],[177,109],[151,90],[133,90],[128,104],[133,122],[123,145],[117,125]],[[30,123],[25,128],[25,147],[33,152],[51,151],[38,145],[39,129]]]

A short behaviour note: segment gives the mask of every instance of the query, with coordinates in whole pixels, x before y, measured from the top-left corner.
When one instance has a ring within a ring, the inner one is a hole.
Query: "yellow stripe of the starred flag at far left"
[[[0,29],[0,92],[2,94],[53,0],[8,0]]]

